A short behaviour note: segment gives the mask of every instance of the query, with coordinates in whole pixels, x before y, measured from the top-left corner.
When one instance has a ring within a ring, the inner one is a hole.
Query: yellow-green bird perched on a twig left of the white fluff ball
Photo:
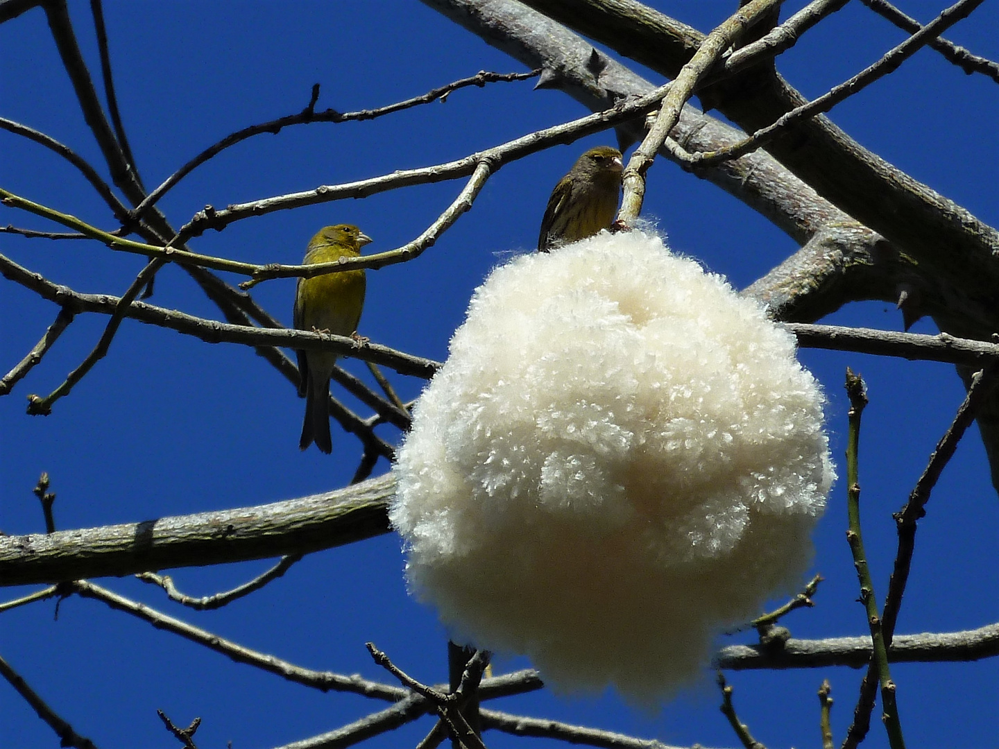
[[[371,237],[350,224],[323,227],[309,241],[303,265],[331,263],[340,258],[356,258]],[[365,272],[347,271],[299,279],[295,290],[295,327],[300,331],[319,331],[337,336],[351,336],[358,330],[361,309],[365,304]],[[313,442],[323,452],[333,451],[330,437],[330,375],[337,363],[336,354],[298,352],[299,397],[306,398],[306,417],[302,423],[299,447]]]

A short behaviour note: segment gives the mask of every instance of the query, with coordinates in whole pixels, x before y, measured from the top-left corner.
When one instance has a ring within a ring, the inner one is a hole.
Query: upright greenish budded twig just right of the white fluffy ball
[[[860,482],[858,469],[858,453],[860,445],[860,419],[864,406],[867,405],[867,386],[860,375],[854,375],[846,370],[846,394],[850,400],[849,430],[846,442],[846,508],[849,516],[849,530],[846,539],[853,554],[853,566],[857,570],[860,581],[860,602],[867,612],[867,625],[871,632],[871,664],[876,668],[878,682],[881,685],[881,708],[885,730],[888,733],[888,743],[891,749],[904,749],[905,740],[902,737],[902,726],[898,719],[898,707],[895,702],[895,682],[891,679],[891,669],[888,665],[888,647],[881,627],[881,617],[878,615],[877,596],[874,593],[874,582],[867,566],[867,554],[864,551],[863,534],[860,528]],[[858,703],[858,711],[861,705]],[[857,721],[854,719],[854,725]],[[850,741],[849,734],[847,742]],[[844,743],[844,746],[847,746]]]

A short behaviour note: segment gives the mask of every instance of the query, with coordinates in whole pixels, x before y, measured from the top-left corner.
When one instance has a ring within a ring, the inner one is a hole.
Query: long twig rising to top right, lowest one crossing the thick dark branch
[[[739,143],[717,151],[689,154],[684,161],[690,165],[715,165],[729,159],[738,159],[750,151],[755,151],[768,141],[773,140],[774,137],[786,128],[815,115],[828,112],[840,102],[874,83],[874,81],[883,78],[889,73],[893,73],[909,57],[929,44],[930,40],[938,34],[942,34],[961,19],[966,18],[983,2],[985,0],[960,0],[960,2],[945,9],[933,21],[923,26],[904,42],[886,52],[876,63],[860,71],[848,81],[844,81],[838,86],[833,87],[817,99],[813,99],[810,102],[802,104],[800,107],[795,107],[791,111],[785,112],[777,118],[776,122],[767,125],[765,128],[760,128]]]

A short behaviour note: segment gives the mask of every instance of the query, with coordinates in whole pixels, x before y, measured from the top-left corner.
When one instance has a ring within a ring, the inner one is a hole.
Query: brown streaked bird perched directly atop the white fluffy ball
[[[597,146],[580,156],[551,191],[537,237],[538,252],[609,229],[623,169],[621,152],[610,146]]]

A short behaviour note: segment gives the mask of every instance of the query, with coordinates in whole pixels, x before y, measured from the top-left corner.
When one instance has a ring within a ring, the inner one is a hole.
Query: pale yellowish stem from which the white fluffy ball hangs
[[[667,90],[659,114],[624,168],[624,197],[617,213],[617,221],[620,224],[632,226],[641,213],[641,204],[645,197],[645,173],[652,166],[655,155],[662,147],[669,131],[679,120],[680,110],[693,95],[698,81],[746,29],[779,7],[781,2],[782,0],[752,0],[739,8],[705,37],[672,83],[660,88]]]

